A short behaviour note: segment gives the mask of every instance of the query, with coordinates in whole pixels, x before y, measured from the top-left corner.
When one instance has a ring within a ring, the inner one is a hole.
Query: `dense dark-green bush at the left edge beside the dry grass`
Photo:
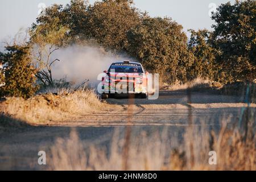
[[[35,86],[35,69],[31,64],[30,47],[7,46],[7,53],[2,54],[5,70],[5,85],[0,87],[0,95],[28,98],[32,96]]]

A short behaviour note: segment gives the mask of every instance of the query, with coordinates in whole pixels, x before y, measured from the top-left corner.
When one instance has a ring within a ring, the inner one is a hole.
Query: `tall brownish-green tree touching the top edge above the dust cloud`
[[[132,7],[133,1],[105,0],[88,8],[86,35],[113,51],[126,51],[127,32],[140,22],[140,13]]]

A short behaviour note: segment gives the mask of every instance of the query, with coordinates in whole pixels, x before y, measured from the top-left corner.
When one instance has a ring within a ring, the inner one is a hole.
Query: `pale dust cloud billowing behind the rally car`
[[[129,59],[121,55],[105,52],[99,47],[71,46],[54,52],[52,59],[59,59],[52,66],[52,75],[56,80],[66,78],[75,85],[89,79],[89,86],[95,87],[100,81],[97,76],[108,70],[114,61]]]

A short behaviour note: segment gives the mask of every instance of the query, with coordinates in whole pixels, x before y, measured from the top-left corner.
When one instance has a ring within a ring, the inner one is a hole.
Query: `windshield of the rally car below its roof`
[[[112,64],[108,72],[115,73],[142,73],[142,68],[137,64]]]

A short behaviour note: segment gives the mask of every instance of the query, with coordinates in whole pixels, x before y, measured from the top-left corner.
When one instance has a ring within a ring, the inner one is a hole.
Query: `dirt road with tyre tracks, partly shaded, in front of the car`
[[[75,121],[48,122],[48,126],[24,127],[0,133],[0,169],[47,169],[38,165],[38,151],[49,151],[57,137],[67,138],[76,127],[80,139],[88,144],[108,146],[113,131],[133,129],[152,133],[168,126],[170,133],[184,130],[192,118],[192,125],[218,127],[221,119],[238,122],[243,97],[222,96],[207,92],[192,92],[191,104],[185,91],[162,91],[158,100],[109,98],[106,102],[120,105],[119,110],[84,114]],[[256,105],[251,107],[256,111]]]

